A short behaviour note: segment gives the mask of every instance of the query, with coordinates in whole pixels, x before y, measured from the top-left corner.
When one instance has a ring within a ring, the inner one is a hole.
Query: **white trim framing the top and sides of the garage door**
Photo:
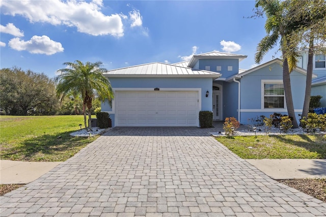
[[[157,87],[159,88],[159,87]],[[154,91],[154,88],[113,88],[116,91]],[[159,91],[198,91],[198,112],[202,110],[202,89],[201,88],[159,88]],[[115,99],[112,100],[112,111],[108,114],[115,114],[116,103]]]

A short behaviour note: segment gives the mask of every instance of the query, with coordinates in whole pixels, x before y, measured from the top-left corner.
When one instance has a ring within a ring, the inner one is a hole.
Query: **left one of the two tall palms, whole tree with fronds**
[[[292,118],[293,128],[297,128],[294,106],[291,92],[290,72],[296,65],[295,49],[289,43],[287,37],[293,30],[293,26],[285,22],[284,5],[278,0],[257,0],[256,8],[261,7],[266,14],[265,30],[267,35],[259,42],[255,54],[256,63],[262,61],[263,56],[280,41],[280,49],[283,56],[283,85],[286,99],[287,112]]]

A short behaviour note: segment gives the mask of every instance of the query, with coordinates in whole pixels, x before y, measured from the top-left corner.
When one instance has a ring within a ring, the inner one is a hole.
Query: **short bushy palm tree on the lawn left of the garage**
[[[110,81],[104,77],[106,69],[101,68],[102,62],[84,64],[79,60],[74,63],[66,62],[66,68],[59,69],[60,74],[55,78],[57,85],[57,95],[62,98],[68,94],[82,96],[85,128],[92,130],[91,110],[92,100],[96,97],[101,101],[112,101],[114,92]],[[89,121],[87,127],[88,108]]]

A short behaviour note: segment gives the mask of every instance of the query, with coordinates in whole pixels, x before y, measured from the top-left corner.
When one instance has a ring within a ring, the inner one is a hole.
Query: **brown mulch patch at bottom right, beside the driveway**
[[[279,182],[307,195],[326,202],[326,178],[323,179],[282,179]]]

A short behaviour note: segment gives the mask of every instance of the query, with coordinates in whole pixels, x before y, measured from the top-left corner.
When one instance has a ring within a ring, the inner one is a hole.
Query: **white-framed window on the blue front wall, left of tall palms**
[[[264,108],[284,108],[282,83],[264,83]]]

